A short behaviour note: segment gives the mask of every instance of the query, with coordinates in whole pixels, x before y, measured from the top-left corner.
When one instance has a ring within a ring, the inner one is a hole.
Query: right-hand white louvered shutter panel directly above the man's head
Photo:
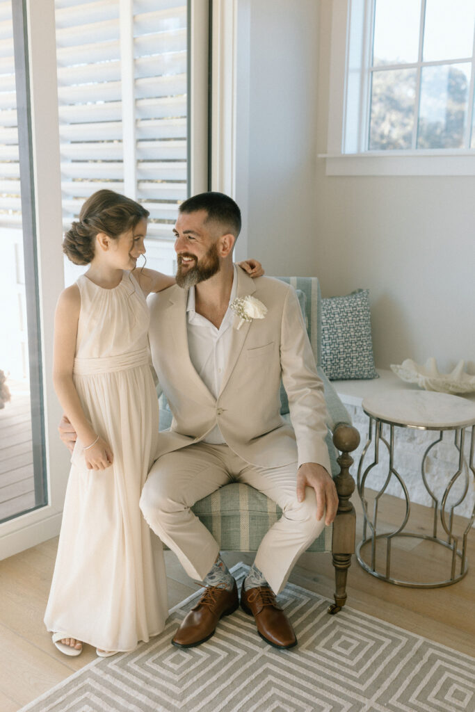
[[[187,3],[161,5],[134,2],[137,200],[157,241],[170,239],[187,198]]]

